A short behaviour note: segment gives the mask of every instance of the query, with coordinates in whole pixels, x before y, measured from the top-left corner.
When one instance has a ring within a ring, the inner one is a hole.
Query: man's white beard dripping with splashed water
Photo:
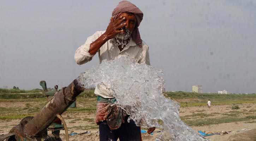
[[[132,32],[128,29],[123,29],[125,31],[125,33],[119,33],[118,35],[115,36],[115,39],[117,41],[117,46],[121,45],[121,48],[124,48],[129,41],[127,41],[127,39],[129,39],[131,37]]]

